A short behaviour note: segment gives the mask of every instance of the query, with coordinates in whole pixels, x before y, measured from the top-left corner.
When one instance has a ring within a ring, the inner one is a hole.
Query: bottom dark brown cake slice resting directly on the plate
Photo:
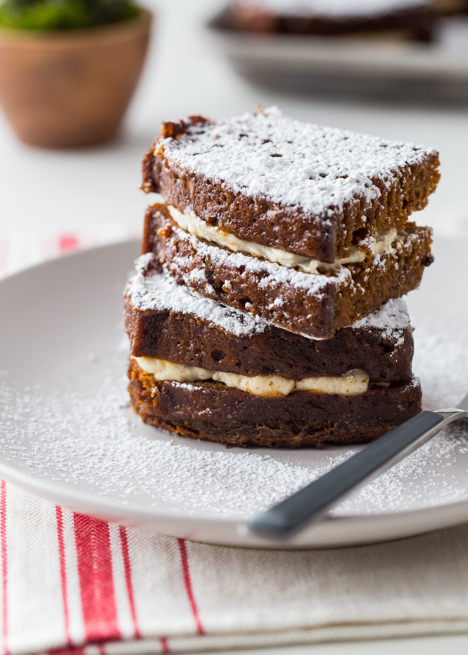
[[[368,388],[352,398],[316,392],[263,398],[211,381],[158,381],[134,360],[130,360],[128,378],[131,405],[144,422],[230,446],[366,443],[421,411],[421,387],[416,379]]]

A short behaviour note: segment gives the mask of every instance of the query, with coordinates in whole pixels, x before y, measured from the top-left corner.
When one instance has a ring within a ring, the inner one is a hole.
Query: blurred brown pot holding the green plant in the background
[[[111,139],[144,64],[151,14],[73,31],[0,29],[0,105],[19,138],[44,147]]]

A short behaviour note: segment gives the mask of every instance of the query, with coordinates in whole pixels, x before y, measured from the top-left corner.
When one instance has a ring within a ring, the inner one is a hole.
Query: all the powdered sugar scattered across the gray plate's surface
[[[402,310],[402,301],[395,303]],[[393,307],[395,310],[395,307]],[[397,316],[398,312],[394,312]],[[404,312],[402,310],[402,315]],[[370,319],[372,320],[372,319]],[[426,405],[453,404],[468,389],[468,348],[423,330],[414,370]],[[356,447],[322,451],[226,450],[145,426],[128,409],[127,353],[81,364],[87,391],[0,386],[0,453],[34,476],[92,493],[203,517],[242,518],[303,487]],[[97,367],[96,367],[97,366]],[[394,512],[468,499],[468,430],[435,439],[336,508],[336,515]],[[461,483],[461,481],[463,481]],[[466,484],[465,484],[466,481]]]

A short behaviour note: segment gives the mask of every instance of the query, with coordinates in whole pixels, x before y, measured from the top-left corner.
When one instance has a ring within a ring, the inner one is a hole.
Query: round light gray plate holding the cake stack
[[[408,298],[425,407],[468,390],[467,246],[439,240]],[[468,430],[454,426],[290,543],[246,517],[356,448],[230,449],[144,425],[128,407],[122,289],[136,242],[69,255],[0,282],[0,476],[102,519],[236,546],[342,546],[468,519]]]

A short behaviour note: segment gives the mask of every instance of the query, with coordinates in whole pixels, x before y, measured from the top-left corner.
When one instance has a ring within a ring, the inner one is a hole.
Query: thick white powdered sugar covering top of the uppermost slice
[[[389,187],[399,180],[402,167],[422,162],[432,152],[421,145],[296,121],[277,107],[191,126],[159,145],[182,168],[227,183],[243,195],[266,196],[322,218],[357,198],[372,202],[380,189],[371,178]]]

